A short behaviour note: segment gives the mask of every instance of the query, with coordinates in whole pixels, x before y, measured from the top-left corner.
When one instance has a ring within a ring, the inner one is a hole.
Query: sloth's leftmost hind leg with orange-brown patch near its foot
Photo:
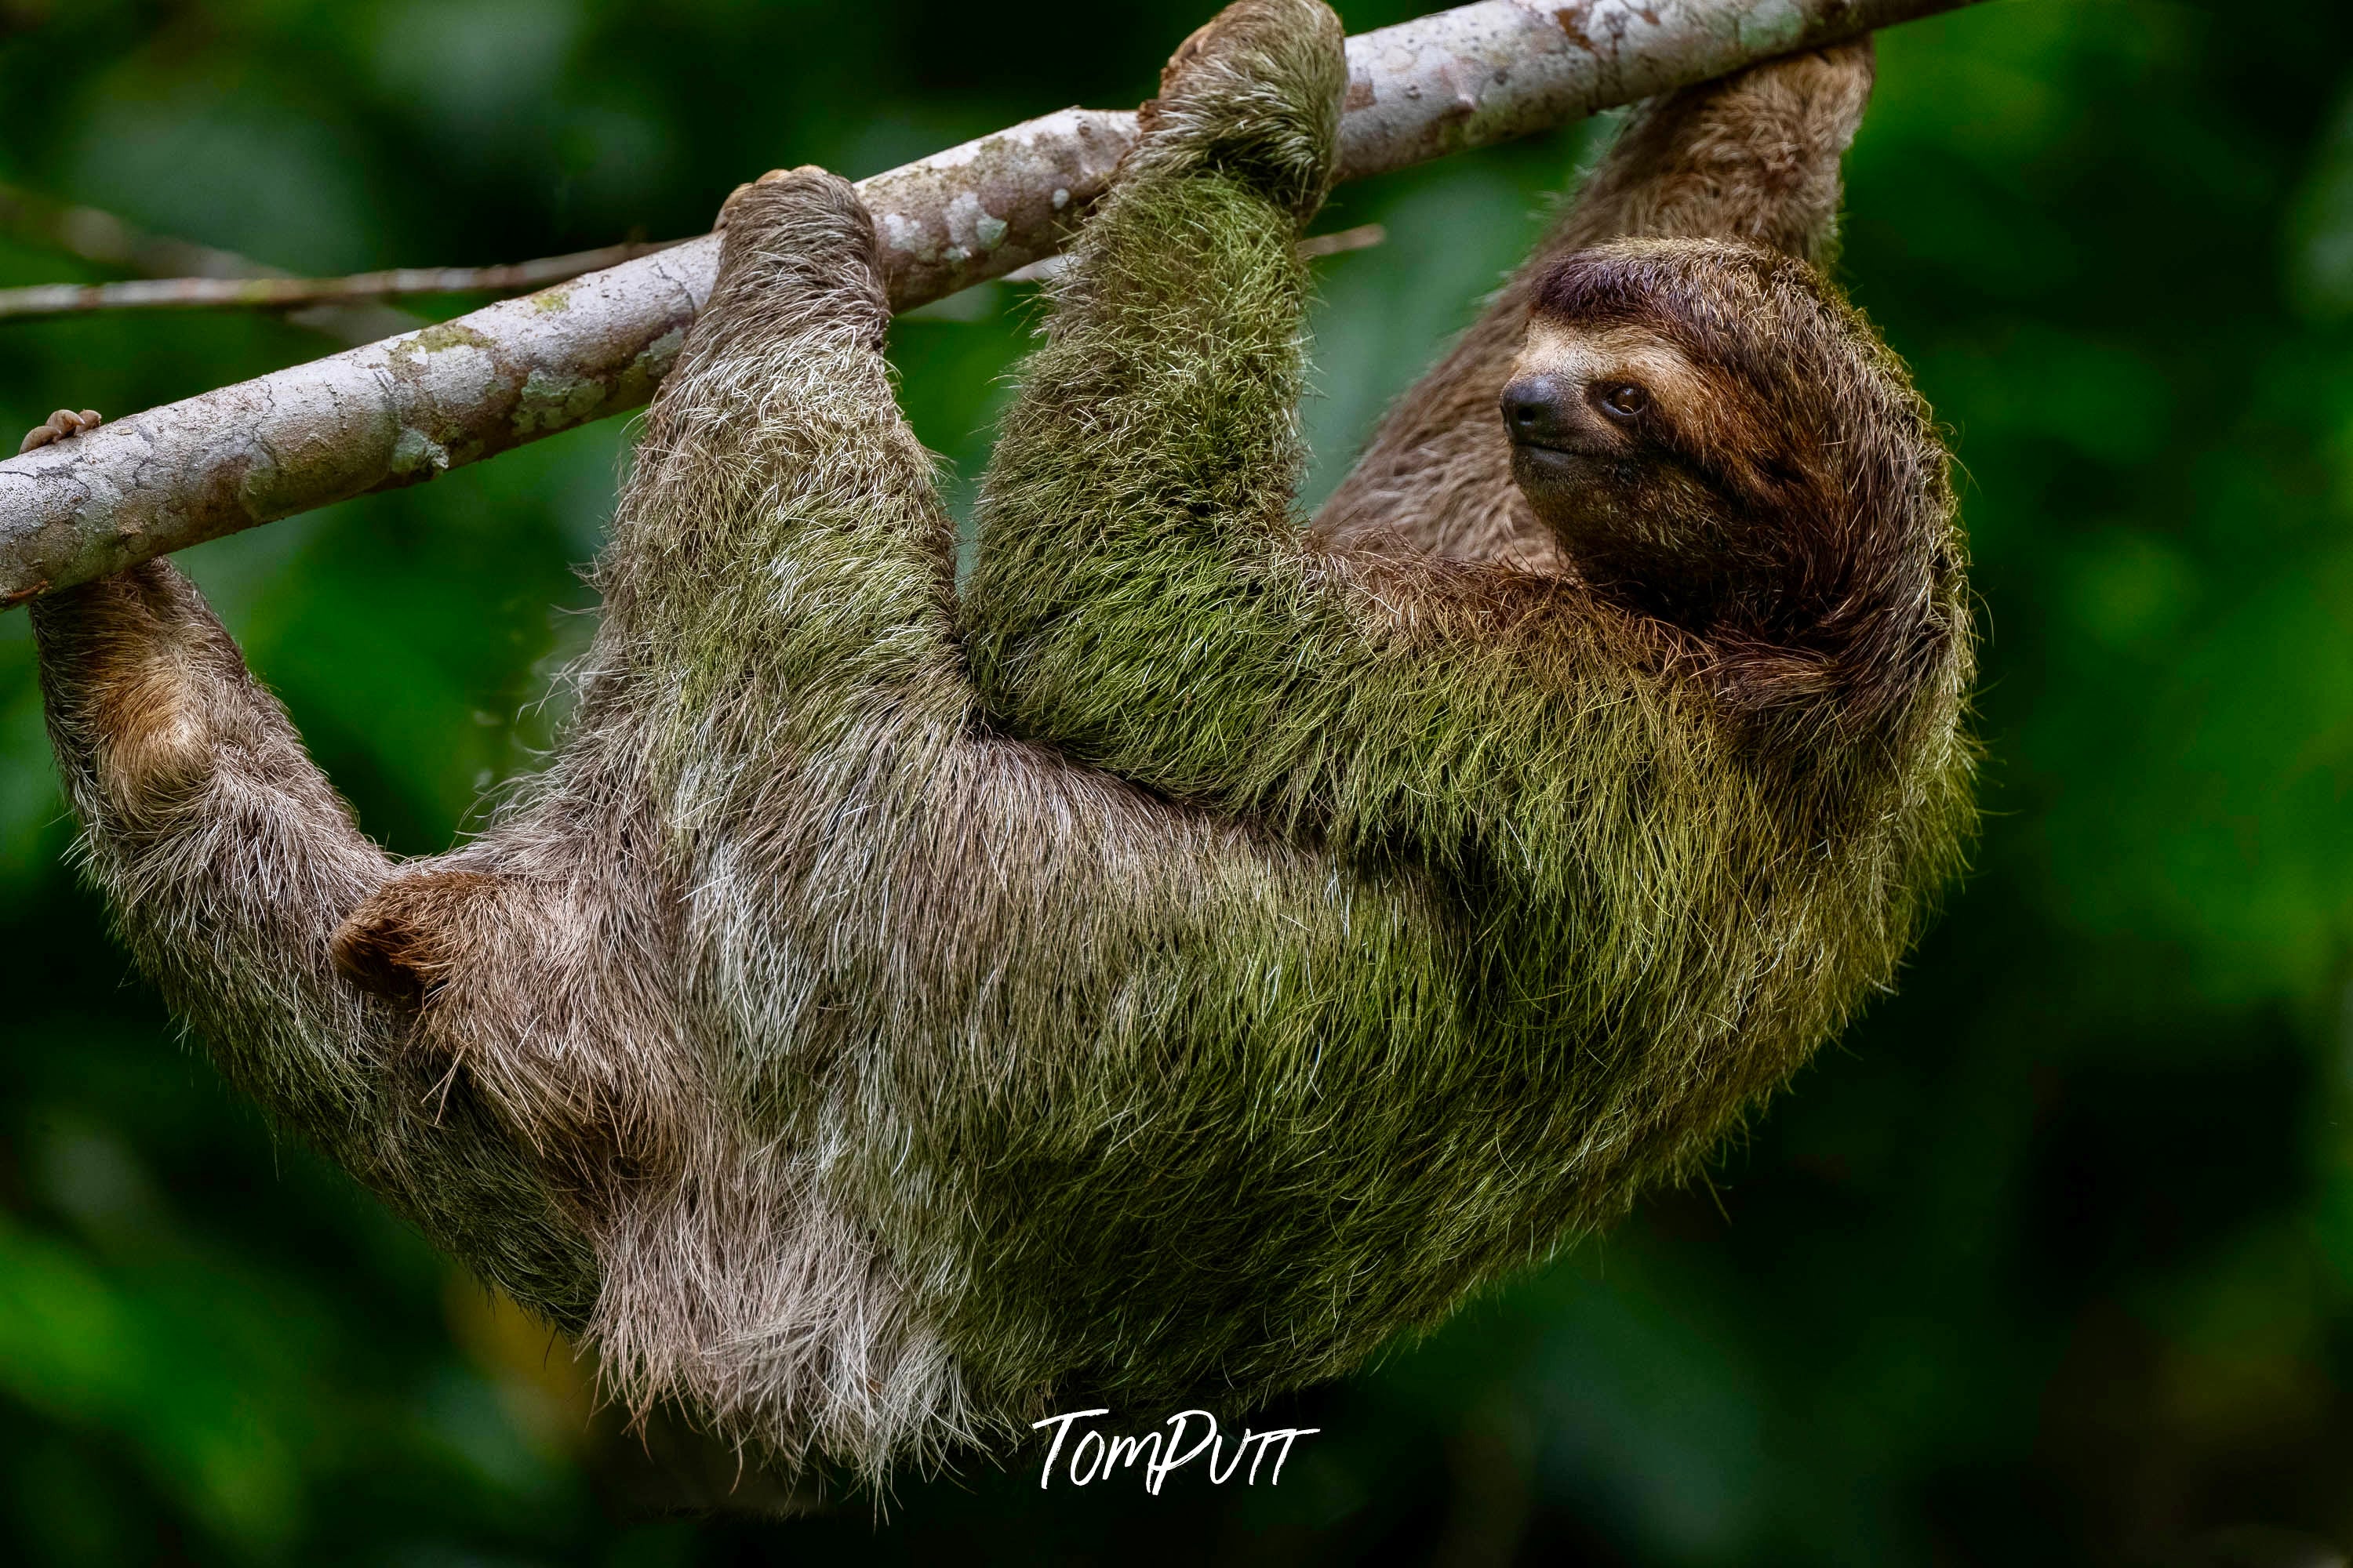
[[[581,1321],[591,1260],[548,1192],[468,1100],[421,1110],[398,1013],[329,961],[393,863],[195,585],[144,562],[31,614],[82,875],[141,973],[273,1119],[485,1279]]]

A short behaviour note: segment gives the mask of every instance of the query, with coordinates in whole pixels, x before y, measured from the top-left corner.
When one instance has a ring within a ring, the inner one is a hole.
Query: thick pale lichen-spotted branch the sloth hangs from
[[[1482,0],[1348,40],[1341,179],[1487,146],[1974,0]],[[859,186],[906,310],[1061,249],[1134,141],[1066,108]],[[621,414],[675,364],[713,237],[0,463],[0,607]],[[71,402],[71,388],[56,390]]]

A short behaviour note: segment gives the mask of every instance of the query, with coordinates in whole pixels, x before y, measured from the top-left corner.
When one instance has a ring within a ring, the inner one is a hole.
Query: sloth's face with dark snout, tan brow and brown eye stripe
[[[1682,621],[1741,574],[1755,541],[1706,461],[1725,402],[1652,327],[1529,322],[1501,400],[1511,475],[1595,588]]]

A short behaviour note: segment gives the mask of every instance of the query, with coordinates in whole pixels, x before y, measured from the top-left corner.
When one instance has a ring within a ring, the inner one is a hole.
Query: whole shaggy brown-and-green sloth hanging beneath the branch
[[[1341,28],[1228,7],[962,581],[873,223],[769,174],[546,771],[393,860],[153,562],[33,604],[87,875],[242,1091],[638,1413],[882,1476],[1339,1375],[1699,1168],[1958,867],[1948,458],[1819,270],[1868,87],[1645,106],[1304,524]]]

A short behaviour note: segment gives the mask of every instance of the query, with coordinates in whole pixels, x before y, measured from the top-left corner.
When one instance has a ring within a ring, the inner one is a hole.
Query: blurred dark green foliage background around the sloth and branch
[[[1348,5],[1353,28],[1414,7]],[[694,233],[1129,103],[1207,5],[0,0],[0,179],[299,270]],[[0,616],[0,1556],[2160,1563],[2353,1540],[2353,9],[2002,0],[1882,45],[1847,277],[1951,421],[1988,825],[1901,992],[1713,1192],[1282,1413],[1280,1488],[908,1479],[647,1521],[581,1373],[181,1048],[66,870]],[[1341,193],[1318,487],[1581,132]],[[94,277],[0,237],[0,284]],[[466,301],[435,301],[454,313]],[[906,320],[969,487],[1031,306]],[[0,425],[332,348],[0,327]],[[369,832],[529,766],[624,428],[181,557]],[[551,611],[551,607],[558,607]],[[1134,1413],[1129,1427],[1160,1413]],[[2289,1556],[2271,1561],[2294,1561]]]

